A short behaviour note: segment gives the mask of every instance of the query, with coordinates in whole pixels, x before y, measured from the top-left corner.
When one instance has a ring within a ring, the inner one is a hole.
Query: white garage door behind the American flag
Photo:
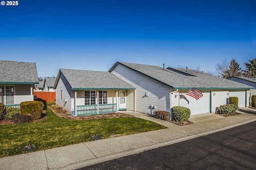
[[[180,93],[180,98],[182,98],[186,93]],[[187,107],[191,111],[191,115],[209,113],[210,110],[210,92],[202,92],[204,95],[202,98],[196,100],[191,96],[185,95],[180,100],[180,106]]]

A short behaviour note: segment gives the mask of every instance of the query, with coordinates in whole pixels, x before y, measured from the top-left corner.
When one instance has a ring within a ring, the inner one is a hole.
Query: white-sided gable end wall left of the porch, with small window
[[[61,90],[63,90],[63,99],[68,99],[67,102],[64,102],[64,100],[60,100]],[[68,111],[71,111],[71,91],[71,86],[68,84],[68,81],[63,76],[63,74],[61,74],[60,80],[56,87],[56,105],[61,106]]]

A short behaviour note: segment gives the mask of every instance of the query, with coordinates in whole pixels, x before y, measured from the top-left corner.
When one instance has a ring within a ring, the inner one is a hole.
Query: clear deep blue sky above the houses
[[[256,58],[255,0],[19,0],[0,17],[0,60],[35,62],[42,77],[116,61],[214,72]]]

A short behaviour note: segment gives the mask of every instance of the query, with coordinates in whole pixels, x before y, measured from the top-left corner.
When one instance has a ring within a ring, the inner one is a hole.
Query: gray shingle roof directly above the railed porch
[[[135,89],[110,72],[63,68],[60,69],[59,74],[60,72],[68,80],[72,89]],[[59,74],[57,78],[59,78]]]

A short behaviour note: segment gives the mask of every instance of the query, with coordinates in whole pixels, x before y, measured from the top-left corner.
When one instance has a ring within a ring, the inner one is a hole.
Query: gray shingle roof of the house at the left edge
[[[38,84],[36,63],[1,60],[0,83]]]

